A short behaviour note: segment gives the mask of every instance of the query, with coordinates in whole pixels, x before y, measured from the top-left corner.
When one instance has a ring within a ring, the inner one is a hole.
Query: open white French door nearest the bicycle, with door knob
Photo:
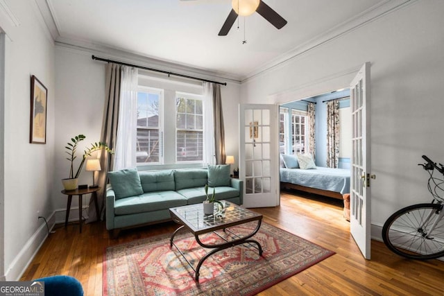
[[[364,258],[370,259],[370,63],[350,84],[352,159],[350,232]]]

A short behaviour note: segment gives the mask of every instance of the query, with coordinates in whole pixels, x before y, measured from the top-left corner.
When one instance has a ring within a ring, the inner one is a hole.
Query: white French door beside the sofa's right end
[[[239,127],[244,207],[275,207],[280,202],[278,105],[239,105]]]

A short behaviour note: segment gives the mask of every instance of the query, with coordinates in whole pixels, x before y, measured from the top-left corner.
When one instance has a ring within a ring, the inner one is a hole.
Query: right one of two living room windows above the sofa
[[[203,161],[203,102],[200,96],[176,94],[176,162]]]

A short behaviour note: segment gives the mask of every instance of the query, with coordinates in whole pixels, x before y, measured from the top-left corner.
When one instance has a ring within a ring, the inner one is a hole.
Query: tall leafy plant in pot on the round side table
[[[87,148],[82,156],[82,160],[80,161],[80,164],[78,165],[76,173],[74,173],[74,160],[77,158],[76,156],[76,150],[78,143],[80,141],[83,141],[86,137],[83,134],[79,134],[78,136],[71,138],[71,141],[67,142],[67,146],[65,146],[65,153],[69,155],[67,157],[67,160],[70,162],[69,166],[69,177],[66,179],[62,179],[63,186],[65,187],[65,190],[74,190],[77,188],[78,184],[78,176],[80,175],[80,172],[82,171],[83,164],[85,164],[85,160],[87,157],[91,156],[91,153],[93,153],[96,150],[105,150],[108,153],[114,153],[106,143],[99,142],[99,143],[91,143],[91,146]]]

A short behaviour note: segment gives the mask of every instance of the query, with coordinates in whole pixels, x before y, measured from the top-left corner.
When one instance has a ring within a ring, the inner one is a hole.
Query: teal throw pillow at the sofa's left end
[[[109,172],[108,177],[117,199],[144,193],[136,168]]]

